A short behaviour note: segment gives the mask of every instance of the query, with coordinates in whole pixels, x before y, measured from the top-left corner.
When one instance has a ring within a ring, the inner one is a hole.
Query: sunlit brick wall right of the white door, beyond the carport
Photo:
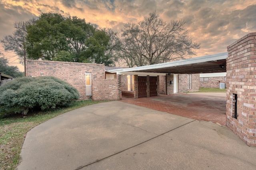
[[[192,88],[188,89],[188,74],[178,75],[178,92],[194,92],[198,91],[200,87],[199,74],[192,74]]]

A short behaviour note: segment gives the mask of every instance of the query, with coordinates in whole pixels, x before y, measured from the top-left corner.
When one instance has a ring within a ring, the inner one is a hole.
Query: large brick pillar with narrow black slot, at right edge
[[[256,32],[228,46],[226,125],[256,147]]]

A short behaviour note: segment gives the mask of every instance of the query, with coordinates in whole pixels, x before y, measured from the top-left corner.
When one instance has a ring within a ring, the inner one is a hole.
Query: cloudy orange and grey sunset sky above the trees
[[[189,36],[201,44],[201,57],[227,52],[227,46],[250,32],[256,32],[256,0],[0,0],[0,39],[11,35],[15,21],[41,13],[77,16],[99,27],[121,31],[124,23],[138,23],[156,11],[166,21],[185,20]],[[10,65],[19,64],[13,52],[0,52]]]

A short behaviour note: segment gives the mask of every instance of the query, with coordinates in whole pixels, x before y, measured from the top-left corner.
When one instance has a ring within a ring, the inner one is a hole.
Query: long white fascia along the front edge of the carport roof
[[[116,70],[110,70],[109,72],[129,72],[129,71],[138,71],[138,70],[148,70],[148,69],[156,69],[156,68],[165,68],[165,67],[173,67],[173,66],[182,66],[187,64],[196,64],[196,63],[204,63],[207,61],[217,61],[217,60],[223,60],[228,57],[228,53],[220,53],[220,54],[214,54],[214,55],[207,55],[203,57],[195,57],[191,59],[186,60],[179,60],[179,61],[173,61],[169,63],[160,63],[160,64],[153,64],[153,65],[147,65],[147,66],[139,66],[139,67],[132,67],[132,68],[120,68]]]

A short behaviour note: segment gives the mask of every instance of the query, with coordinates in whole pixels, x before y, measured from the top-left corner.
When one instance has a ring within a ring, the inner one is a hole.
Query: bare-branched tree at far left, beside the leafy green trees
[[[26,35],[28,34],[26,26],[34,24],[36,21],[35,18],[32,18],[27,21],[19,21],[14,23],[14,32],[12,35],[5,35],[1,40],[5,51],[14,52],[20,60],[20,63],[24,63],[26,61]],[[26,75],[26,71],[25,71]]]

